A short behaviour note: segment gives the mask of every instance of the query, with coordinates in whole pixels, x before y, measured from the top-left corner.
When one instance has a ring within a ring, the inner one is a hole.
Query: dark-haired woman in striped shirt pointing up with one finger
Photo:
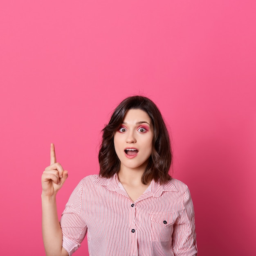
[[[48,255],[72,255],[88,234],[91,256],[195,256],[189,189],[168,174],[168,131],[155,103],[129,97],[103,129],[99,175],[76,186],[58,222],[56,193],[67,179],[56,163],[42,175],[43,240]]]

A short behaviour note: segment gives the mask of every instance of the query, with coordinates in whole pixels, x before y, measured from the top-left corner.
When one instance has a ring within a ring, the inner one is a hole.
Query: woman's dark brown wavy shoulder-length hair
[[[153,128],[152,154],[141,177],[147,184],[151,180],[164,184],[171,180],[168,171],[172,162],[171,143],[164,119],[153,101],[143,96],[132,96],[124,99],[114,110],[108,125],[102,130],[102,143],[99,150],[99,175],[110,178],[120,170],[120,160],[114,146],[114,135],[120,127],[126,112],[130,109],[145,111],[150,117]]]

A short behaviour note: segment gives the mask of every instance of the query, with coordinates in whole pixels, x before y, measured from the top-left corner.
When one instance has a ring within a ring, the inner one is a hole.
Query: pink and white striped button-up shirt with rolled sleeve
[[[90,256],[194,256],[194,209],[188,187],[154,180],[135,202],[117,175],[85,177],[61,217],[63,248],[71,256],[88,234]]]

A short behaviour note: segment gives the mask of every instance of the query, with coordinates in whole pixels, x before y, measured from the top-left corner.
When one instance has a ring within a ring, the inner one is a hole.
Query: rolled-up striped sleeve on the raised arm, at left
[[[63,234],[62,246],[70,256],[81,246],[87,232],[87,226],[81,214],[83,182],[84,180],[81,180],[70,195],[60,220]]]

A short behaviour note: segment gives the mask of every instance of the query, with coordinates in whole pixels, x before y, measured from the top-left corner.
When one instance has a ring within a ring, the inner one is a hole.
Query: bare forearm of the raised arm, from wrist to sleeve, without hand
[[[47,256],[68,256],[62,247],[62,231],[58,220],[56,197],[42,195],[42,232]]]

